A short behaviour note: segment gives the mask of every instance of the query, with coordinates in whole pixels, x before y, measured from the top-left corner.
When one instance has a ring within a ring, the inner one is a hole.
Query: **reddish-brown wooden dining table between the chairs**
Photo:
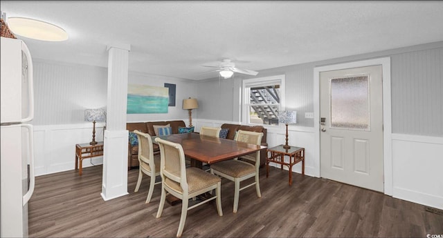
[[[152,137],[154,143],[156,143],[155,138]],[[159,138],[181,144],[185,156],[191,159],[191,166],[198,168],[202,168],[203,163],[216,163],[267,148],[231,139],[208,137],[199,133],[172,134]]]

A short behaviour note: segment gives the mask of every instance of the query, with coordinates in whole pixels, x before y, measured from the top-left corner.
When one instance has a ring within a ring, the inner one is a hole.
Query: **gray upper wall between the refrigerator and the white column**
[[[84,109],[106,107],[106,68],[40,59],[33,66],[34,125],[84,123]]]

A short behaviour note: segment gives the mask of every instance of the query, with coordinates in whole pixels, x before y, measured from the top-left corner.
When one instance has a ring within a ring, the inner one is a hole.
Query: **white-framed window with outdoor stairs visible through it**
[[[284,75],[243,81],[242,121],[246,124],[278,125],[284,108]]]

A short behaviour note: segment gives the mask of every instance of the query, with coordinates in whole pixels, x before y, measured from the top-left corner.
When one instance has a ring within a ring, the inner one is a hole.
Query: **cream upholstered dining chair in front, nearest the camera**
[[[219,216],[223,216],[220,195],[221,179],[199,168],[186,168],[185,155],[181,144],[160,138],[156,138],[155,141],[159,143],[160,147],[160,176],[162,181],[161,198],[156,217],[161,217],[167,192],[182,200],[177,237],[181,237],[185,226],[186,215],[188,210],[192,208],[216,199],[217,212]],[[214,197],[188,207],[189,199],[204,194],[205,192],[212,192],[213,190],[215,190]]]

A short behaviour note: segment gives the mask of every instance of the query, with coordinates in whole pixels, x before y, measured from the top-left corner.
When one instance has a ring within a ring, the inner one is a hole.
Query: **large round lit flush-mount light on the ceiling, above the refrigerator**
[[[40,41],[66,41],[68,33],[51,23],[24,17],[9,17],[8,27],[14,34]]]

